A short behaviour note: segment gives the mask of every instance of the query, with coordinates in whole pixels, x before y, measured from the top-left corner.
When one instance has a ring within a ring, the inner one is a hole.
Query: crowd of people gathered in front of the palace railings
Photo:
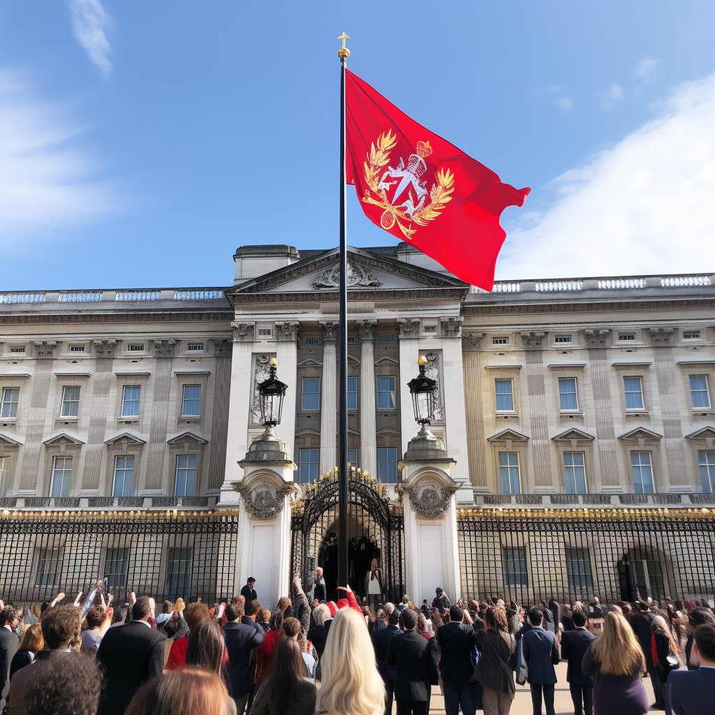
[[[534,715],[542,706],[553,715],[560,661],[576,715],[715,711],[715,615],[705,601],[523,607],[451,603],[437,588],[415,606],[370,591],[376,578],[383,588],[381,574],[370,578],[378,564],[363,598],[347,585],[325,601],[318,571],[312,596],[295,578],[272,611],[253,578],[210,608],[177,598],[162,613],[134,593],[113,609],[100,584],[84,603],[79,594],[63,605],[60,593],[26,613],[0,601],[0,711],[391,715],[395,702],[398,715],[427,715],[439,687],[446,715],[508,715],[516,685],[528,684]]]

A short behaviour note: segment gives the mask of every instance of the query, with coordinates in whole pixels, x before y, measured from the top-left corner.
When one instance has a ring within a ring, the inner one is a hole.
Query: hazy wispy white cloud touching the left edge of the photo
[[[0,69],[0,247],[55,237],[63,227],[119,207],[116,189],[77,148],[84,129],[63,107],[36,99],[18,73]]]

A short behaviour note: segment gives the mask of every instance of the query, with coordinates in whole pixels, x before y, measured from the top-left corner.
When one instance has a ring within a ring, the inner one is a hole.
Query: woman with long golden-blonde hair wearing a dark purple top
[[[621,613],[606,613],[603,633],[588,646],[581,668],[593,680],[593,715],[646,715],[646,659]]]

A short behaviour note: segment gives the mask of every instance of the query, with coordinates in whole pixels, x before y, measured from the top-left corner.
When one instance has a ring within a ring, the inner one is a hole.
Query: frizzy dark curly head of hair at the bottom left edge
[[[102,675],[93,658],[54,653],[37,664],[29,680],[27,711],[34,715],[94,715],[101,693]]]

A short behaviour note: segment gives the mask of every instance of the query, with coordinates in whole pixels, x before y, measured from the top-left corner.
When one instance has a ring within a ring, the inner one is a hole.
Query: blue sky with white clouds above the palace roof
[[[497,277],[715,270],[705,1],[0,4],[0,290],[229,285],[337,245],[338,61],[531,186]],[[348,240],[388,245],[350,189]]]

